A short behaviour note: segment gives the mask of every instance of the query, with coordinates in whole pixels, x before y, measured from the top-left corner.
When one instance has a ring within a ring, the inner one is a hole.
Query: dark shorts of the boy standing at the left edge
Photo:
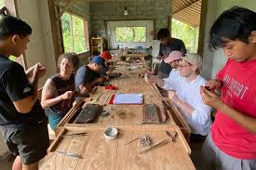
[[[47,124],[13,127],[0,126],[8,150],[19,155],[22,164],[39,162],[47,155],[49,138]]]

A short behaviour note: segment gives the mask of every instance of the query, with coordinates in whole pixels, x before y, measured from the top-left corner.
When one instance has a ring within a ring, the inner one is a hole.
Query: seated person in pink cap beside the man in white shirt
[[[165,63],[169,64],[172,68],[171,72],[169,72],[168,78],[161,79],[160,77],[146,73],[144,79],[146,82],[155,83],[156,85],[168,89],[168,85],[171,84],[171,80],[176,79],[179,75],[178,64],[179,59],[181,59],[182,53],[180,51],[172,51],[169,53],[168,58],[164,59]]]

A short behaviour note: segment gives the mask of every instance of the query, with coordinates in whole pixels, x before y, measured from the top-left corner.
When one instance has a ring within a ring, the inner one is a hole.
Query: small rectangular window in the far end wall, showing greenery
[[[115,27],[116,43],[146,42],[146,27]]]

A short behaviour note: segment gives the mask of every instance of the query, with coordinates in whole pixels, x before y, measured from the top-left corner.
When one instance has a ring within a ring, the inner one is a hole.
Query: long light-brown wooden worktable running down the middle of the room
[[[120,71],[122,68],[117,65],[113,72]],[[58,124],[56,130],[58,136],[48,149],[47,158],[40,169],[195,169],[189,157],[191,150],[186,141],[187,137],[186,139],[183,137],[184,131],[190,133],[189,127],[179,116],[175,117],[177,114],[175,108],[166,108],[170,103],[164,101],[165,98],[161,97],[155,86],[144,82],[140,76],[144,72],[145,67],[122,72],[120,77],[110,81],[117,90],[106,90],[103,86],[98,86],[90,94],[92,100],[76,103]],[[141,124],[143,105],[109,104],[110,97],[115,93],[141,93],[145,104],[155,104],[167,115],[166,122]],[[108,111],[109,115],[98,117],[91,124],[74,124],[77,108],[84,107],[87,103],[101,104],[102,109]],[[125,112],[125,116],[118,115],[120,111]],[[104,139],[103,131],[109,126],[115,126],[119,130],[118,137],[114,140]],[[140,151],[150,146],[139,147],[138,141],[126,145],[131,139],[147,135],[151,138],[151,146],[153,146],[168,138],[166,130],[178,133],[175,143],[169,141],[145,154],[140,154]],[[61,137],[78,132],[87,132],[88,136]],[[57,151],[79,154],[82,158],[67,156]]]

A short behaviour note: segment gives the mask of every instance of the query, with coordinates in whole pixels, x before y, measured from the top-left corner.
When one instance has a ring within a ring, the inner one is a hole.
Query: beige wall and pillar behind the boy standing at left
[[[29,23],[33,29],[30,43],[25,51],[25,60],[28,68],[39,61],[46,65],[47,75],[39,82],[39,86],[43,86],[47,77],[56,73],[47,1],[18,0],[17,10],[20,19]]]

